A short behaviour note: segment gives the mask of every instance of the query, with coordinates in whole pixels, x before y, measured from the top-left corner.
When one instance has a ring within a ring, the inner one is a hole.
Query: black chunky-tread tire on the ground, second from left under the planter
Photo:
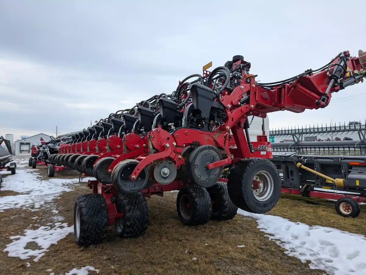
[[[145,196],[141,192],[135,194],[118,193],[115,203],[117,211],[124,213],[123,218],[116,220],[117,236],[134,238],[145,234],[149,225],[149,212]]]

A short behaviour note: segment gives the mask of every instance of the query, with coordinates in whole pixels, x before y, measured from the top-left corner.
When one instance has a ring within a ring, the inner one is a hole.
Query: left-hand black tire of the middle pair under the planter
[[[182,214],[184,205],[181,200],[189,198],[191,209],[189,216]],[[177,195],[177,212],[180,221],[185,225],[202,225],[212,216],[212,203],[208,191],[200,186],[186,186],[179,190]]]

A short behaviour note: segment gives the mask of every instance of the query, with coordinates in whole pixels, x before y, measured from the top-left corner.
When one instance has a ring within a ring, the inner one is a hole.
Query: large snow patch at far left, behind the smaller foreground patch
[[[76,181],[77,179],[41,180],[31,170],[18,170],[15,175],[3,180],[1,190],[24,194],[0,197],[0,212],[5,209],[29,209],[30,207],[33,207],[29,209],[31,211],[39,210],[46,202],[57,198],[61,192],[71,191],[70,185]]]

